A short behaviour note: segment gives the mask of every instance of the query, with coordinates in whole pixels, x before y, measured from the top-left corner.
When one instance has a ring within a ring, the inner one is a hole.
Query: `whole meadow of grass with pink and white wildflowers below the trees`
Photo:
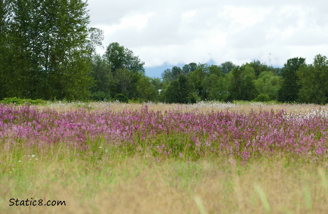
[[[0,213],[325,213],[325,109],[1,105]]]

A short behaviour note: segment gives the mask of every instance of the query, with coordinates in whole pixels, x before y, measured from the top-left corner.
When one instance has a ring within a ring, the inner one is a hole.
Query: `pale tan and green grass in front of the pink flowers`
[[[37,160],[36,160],[37,159]],[[108,151],[102,156],[52,148],[0,151],[1,213],[323,213],[325,159],[229,156],[196,162]],[[316,161],[316,162],[315,162]],[[10,199],[66,206],[9,206]],[[45,203],[45,202],[44,202]]]

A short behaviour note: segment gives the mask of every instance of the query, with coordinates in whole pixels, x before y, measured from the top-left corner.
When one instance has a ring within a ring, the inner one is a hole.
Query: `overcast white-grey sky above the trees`
[[[90,24],[145,62],[160,77],[191,62],[236,65],[260,60],[282,67],[289,58],[328,56],[328,1],[89,0]],[[103,54],[105,49],[98,48]],[[269,54],[271,53],[271,55]]]

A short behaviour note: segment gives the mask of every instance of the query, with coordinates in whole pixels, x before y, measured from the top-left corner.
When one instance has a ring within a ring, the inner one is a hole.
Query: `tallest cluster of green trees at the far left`
[[[2,97],[86,99],[92,78],[86,55],[87,3],[11,1],[1,54]],[[6,17],[6,16],[5,16]],[[1,36],[2,37],[2,36]]]

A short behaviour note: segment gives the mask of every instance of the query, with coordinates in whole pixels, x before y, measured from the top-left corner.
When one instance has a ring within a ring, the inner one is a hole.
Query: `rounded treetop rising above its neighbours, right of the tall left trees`
[[[111,64],[113,75],[117,69],[128,69],[134,73],[145,73],[143,65],[138,56],[134,56],[133,52],[124,46],[120,46],[117,42],[109,44],[106,48],[105,56]]]

